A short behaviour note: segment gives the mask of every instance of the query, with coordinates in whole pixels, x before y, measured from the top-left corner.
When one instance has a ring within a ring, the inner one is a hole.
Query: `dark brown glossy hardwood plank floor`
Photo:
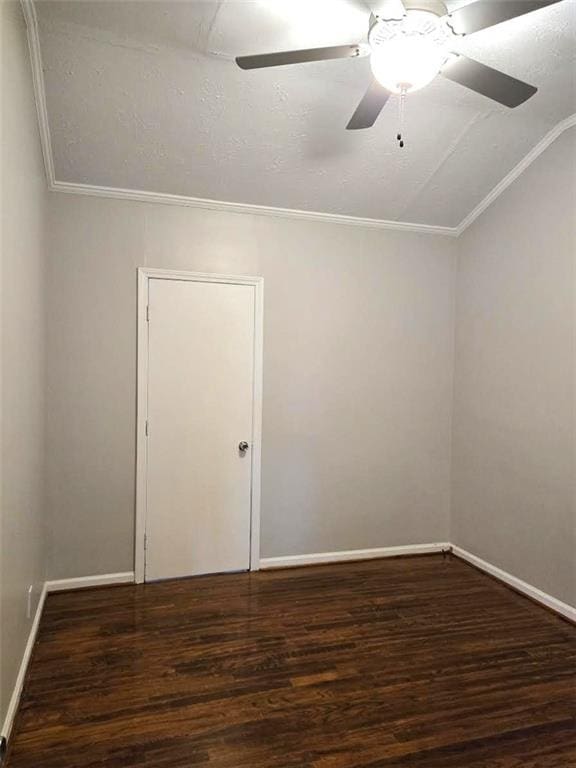
[[[576,628],[441,556],[50,595],[8,768],[572,768]]]

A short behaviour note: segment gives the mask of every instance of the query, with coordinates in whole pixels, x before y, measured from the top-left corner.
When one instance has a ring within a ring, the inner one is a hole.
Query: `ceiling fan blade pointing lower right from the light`
[[[457,56],[444,66],[441,71],[448,80],[470,88],[476,93],[481,93],[493,101],[504,104],[506,107],[518,107],[531,96],[534,96],[538,88],[515,77],[504,74],[498,69],[487,67],[474,59],[466,56]]]

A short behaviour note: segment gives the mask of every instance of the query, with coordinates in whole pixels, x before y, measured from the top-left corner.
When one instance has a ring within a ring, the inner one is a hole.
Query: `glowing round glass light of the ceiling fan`
[[[451,33],[436,14],[409,10],[403,19],[376,22],[368,39],[374,77],[391,93],[411,93],[436,77]]]

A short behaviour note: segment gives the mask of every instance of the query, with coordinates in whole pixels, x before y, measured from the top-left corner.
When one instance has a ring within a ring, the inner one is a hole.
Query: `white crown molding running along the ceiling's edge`
[[[431,224],[417,224],[404,221],[388,221],[386,219],[368,219],[358,216],[346,216],[336,213],[322,213],[319,211],[301,211],[292,208],[275,208],[266,205],[253,205],[249,203],[234,203],[222,200],[210,200],[200,197],[186,197],[184,195],[171,195],[162,192],[148,192],[137,189],[120,189],[117,187],[104,187],[92,184],[77,184],[73,182],[57,181],[54,171],[54,158],[52,154],[52,140],[50,137],[50,125],[48,122],[48,108],[46,105],[46,90],[44,84],[44,71],[42,66],[42,54],[40,50],[40,37],[38,33],[38,19],[34,0],[20,0],[28,34],[28,46],[30,48],[30,62],[32,66],[32,78],[34,95],[36,99],[36,111],[38,113],[38,125],[40,129],[40,141],[48,188],[53,192],[66,192],[76,195],[90,195],[92,197],[104,197],[115,200],[132,200],[142,203],[159,203],[162,205],[179,205],[188,208],[201,208],[212,211],[225,211],[228,213],[248,213],[259,216],[273,216],[283,219],[295,219],[300,221],[316,221],[328,224],[344,224],[347,226],[363,227],[364,229],[386,229],[397,232],[416,232],[427,235],[444,235],[459,237],[476,219],[490,206],[532,163],[554,142],[564,131],[576,125],[576,113],[555,125],[544,138],[533,147],[528,154],[508,173],[486,197],[458,224],[456,227],[435,226]]]

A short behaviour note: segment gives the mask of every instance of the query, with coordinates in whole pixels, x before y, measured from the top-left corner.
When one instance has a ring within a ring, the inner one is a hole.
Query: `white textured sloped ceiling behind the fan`
[[[395,99],[374,128],[345,130],[368,59],[232,60],[363,39],[360,0],[36,8],[58,181],[453,227],[576,111],[576,0],[459,44],[536,96],[509,110],[438,77],[407,99],[404,149]]]

